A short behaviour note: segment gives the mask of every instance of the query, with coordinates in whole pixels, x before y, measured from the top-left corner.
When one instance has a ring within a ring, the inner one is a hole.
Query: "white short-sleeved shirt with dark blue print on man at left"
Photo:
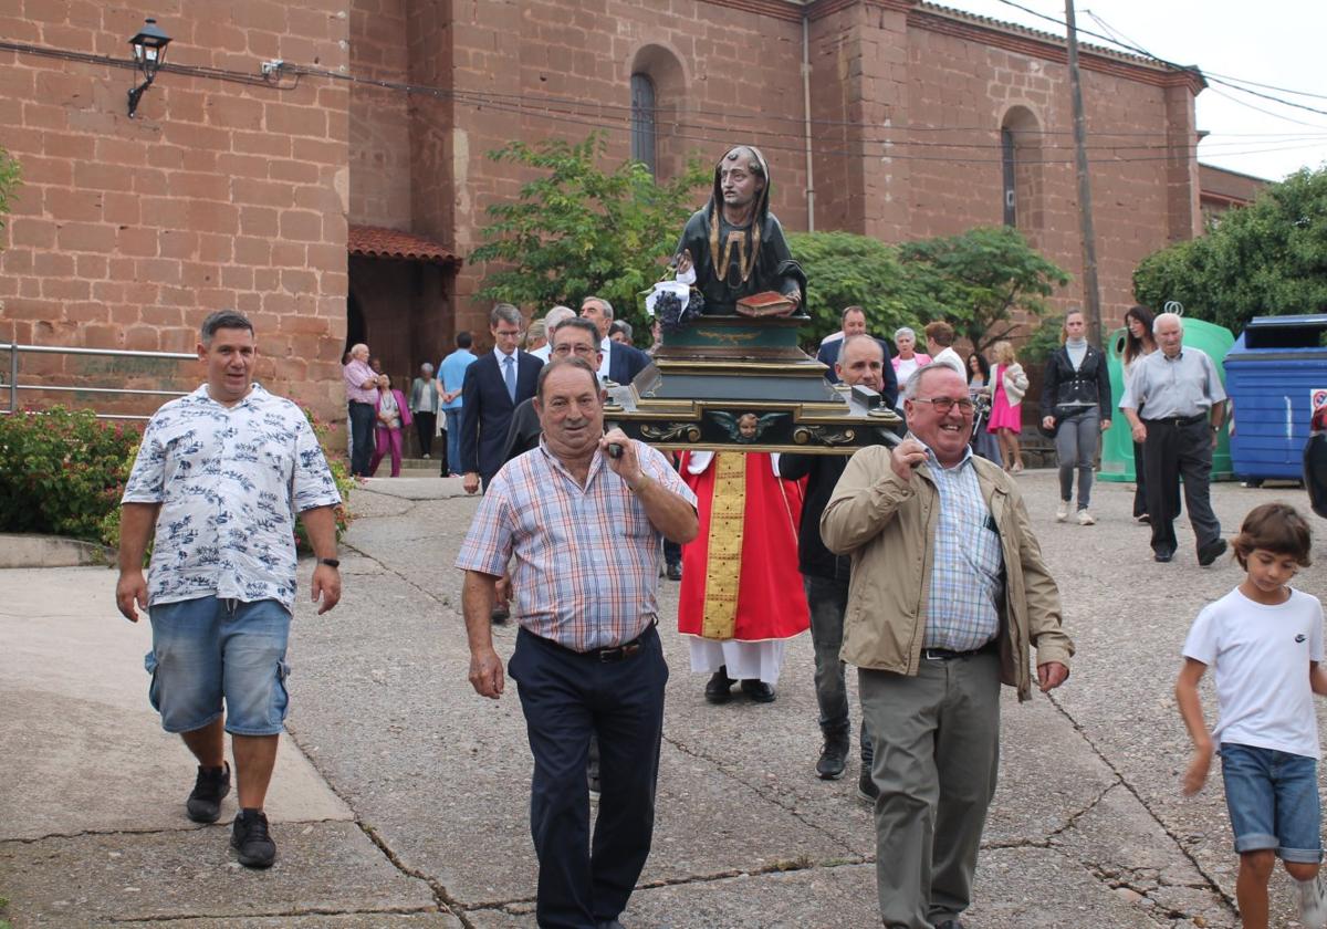
[[[341,503],[304,411],[255,384],[235,406],[198,390],[162,406],[122,503],[159,503],[149,605],[215,596],[295,605],[295,515]]]

